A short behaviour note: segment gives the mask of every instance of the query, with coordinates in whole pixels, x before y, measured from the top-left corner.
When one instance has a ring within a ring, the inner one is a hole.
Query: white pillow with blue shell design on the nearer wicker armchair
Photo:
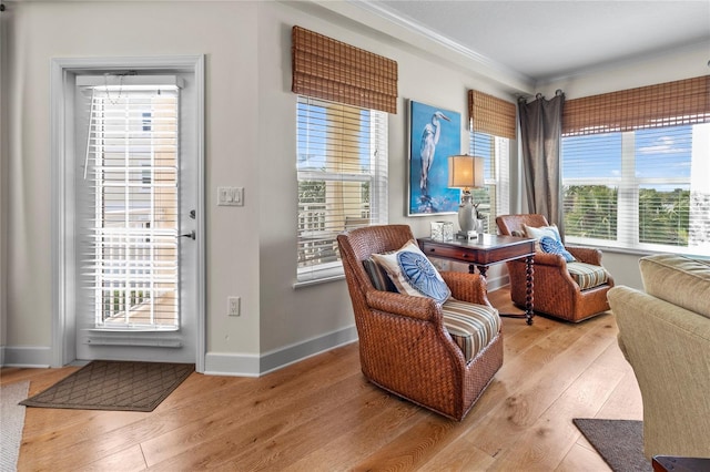
[[[443,304],[452,296],[442,275],[414,240],[390,254],[373,254],[400,294],[434,298]]]

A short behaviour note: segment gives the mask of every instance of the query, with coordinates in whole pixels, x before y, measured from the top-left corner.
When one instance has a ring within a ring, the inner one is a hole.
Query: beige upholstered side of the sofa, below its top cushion
[[[710,319],[629,287],[608,297],[643,399],[646,456],[710,456]]]

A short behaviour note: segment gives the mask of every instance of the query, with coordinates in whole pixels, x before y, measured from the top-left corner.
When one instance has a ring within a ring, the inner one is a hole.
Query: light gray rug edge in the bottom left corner
[[[0,386],[0,471],[18,470],[22,430],[24,429],[24,407],[20,400],[27,397],[29,380]]]

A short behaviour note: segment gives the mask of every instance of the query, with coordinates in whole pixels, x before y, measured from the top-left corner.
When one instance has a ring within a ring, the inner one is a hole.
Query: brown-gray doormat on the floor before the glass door
[[[41,393],[28,407],[153,411],[195,370],[192,363],[93,360]]]

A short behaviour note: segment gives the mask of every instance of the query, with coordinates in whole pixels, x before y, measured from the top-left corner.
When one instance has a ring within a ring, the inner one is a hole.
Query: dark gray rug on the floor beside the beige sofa
[[[643,422],[575,418],[577,429],[615,472],[649,472],[643,456]]]

